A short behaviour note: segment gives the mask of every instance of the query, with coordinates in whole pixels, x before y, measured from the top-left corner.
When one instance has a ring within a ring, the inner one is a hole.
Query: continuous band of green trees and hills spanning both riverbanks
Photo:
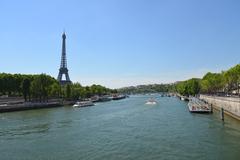
[[[240,64],[221,73],[207,73],[202,79],[192,78],[174,84],[140,85],[111,90],[100,85],[83,87],[79,83],[61,86],[51,76],[0,74],[0,95],[23,96],[27,100],[47,101],[49,98],[84,99],[94,95],[110,93],[156,93],[178,92],[182,95],[238,94],[240,85]]]

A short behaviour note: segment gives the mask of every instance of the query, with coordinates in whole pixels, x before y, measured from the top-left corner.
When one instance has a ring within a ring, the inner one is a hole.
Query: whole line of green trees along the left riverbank
[[[49,99],[78,100],[116,92],[101,85],[82,86],[73,83],[61,86],[46,74],[25,75],[0,73],[0,96],[23,97],[25,101],[47,102]]]

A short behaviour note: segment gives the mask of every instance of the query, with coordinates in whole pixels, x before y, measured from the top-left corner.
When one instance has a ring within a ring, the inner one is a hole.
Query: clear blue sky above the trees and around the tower
[[[1,0],[0,72],[117,88],[220,72],[240,62],[239,0]]]

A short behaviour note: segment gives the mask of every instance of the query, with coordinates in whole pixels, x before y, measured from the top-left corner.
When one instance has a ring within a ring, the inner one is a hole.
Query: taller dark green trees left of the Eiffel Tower
[[[54,95],[54,87],[59,85],[51,76],[0,74],[0,95],[22,96],[25,101],[47,101]]]

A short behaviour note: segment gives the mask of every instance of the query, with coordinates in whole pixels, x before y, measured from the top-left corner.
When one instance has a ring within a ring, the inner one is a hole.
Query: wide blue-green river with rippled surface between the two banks
[[[240,159],[240,122],[148,96],[0,114],[1,160]]]

